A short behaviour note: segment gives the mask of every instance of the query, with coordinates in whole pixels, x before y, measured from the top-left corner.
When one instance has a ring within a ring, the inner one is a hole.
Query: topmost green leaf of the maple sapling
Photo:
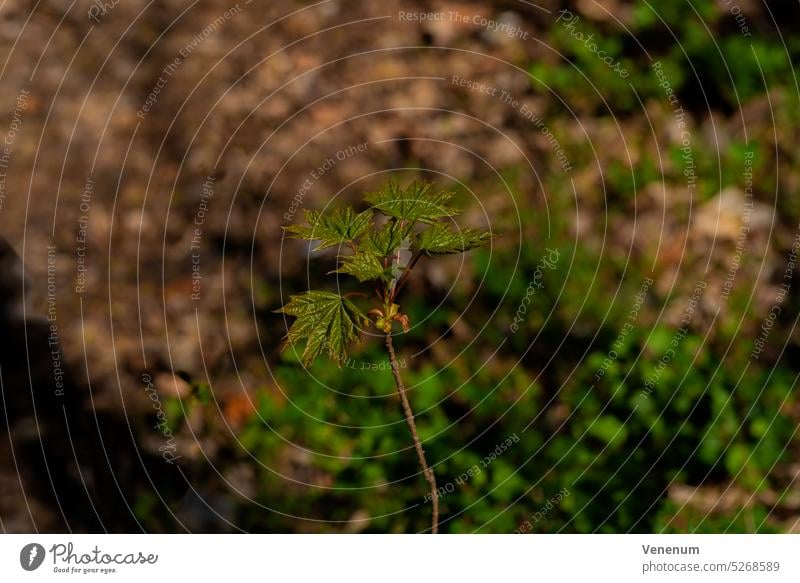
[[[368,194],[364,200],[383,214],[400,221],[432,223],[436,219],[458,214],[458,209],[448,204],[451,198],[452,192],[434,192],[430,184],[413,182],[403,189],[396,182],[389,182],[381,190]]]

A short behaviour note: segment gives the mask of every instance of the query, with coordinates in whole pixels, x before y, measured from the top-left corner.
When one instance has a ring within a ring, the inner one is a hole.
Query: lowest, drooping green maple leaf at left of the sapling
[[[284,348],[305,340],[305,366],[323,353],[341,366],[347,357],[347,345],[357,342],[361,326],[369,324],[367,316],[351,301],[326,291],[289,296],[289,303],[277,312],[297,318],[289,328]]]

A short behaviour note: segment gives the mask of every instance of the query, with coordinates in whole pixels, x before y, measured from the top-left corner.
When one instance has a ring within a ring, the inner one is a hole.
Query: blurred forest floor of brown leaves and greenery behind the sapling
[[[382,343],[274,313],[388,178],[500,234],[402,302],[443,532],[797,531],[799,16],[6,1],[3,531],[427,529]]]

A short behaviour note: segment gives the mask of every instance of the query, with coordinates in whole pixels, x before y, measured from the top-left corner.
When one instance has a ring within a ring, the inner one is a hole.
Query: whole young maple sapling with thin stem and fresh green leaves
[[[428,183],[414,182],[401,188],[396,182],[389,182],[364,197],[369,208],[363,212],[356,212],[349,206],[326,215],[305,211],[308,225],[284,227],[286,233],[317,242],[314,251],[337,247],[338,268],[331,273],[352,276],[360,284],[373,288],[375,300],[370,308],[362,311],[353,300],[372,297],[370,294],[354,291],[342,295],[310,290],[291,295],[289,303],[278,310],[296,318],[283,349],[304,343],[302,362],[305,366],[322,354],[341,366],[347,357],[348,345],[360,342],[362,332],[374,327],[383,333],[414,449],[423,476],[430,485],[431,531],[434,534],[439,529],[436,477],[419,440],[392,335],[395,322],[404,333],[411,325],[397,303],[398,294],[421,258],[463,253],[484,245],[492,237],[490,232],[459,229],[454,224],[453,217],[460,211],[451,205],[453,194],[434,191]]]

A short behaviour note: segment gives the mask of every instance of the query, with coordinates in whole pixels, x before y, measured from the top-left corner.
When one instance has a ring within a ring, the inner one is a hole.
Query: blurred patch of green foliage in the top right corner
[[[564,57],[530,64],[533,87],[557,93],[573,109],[629,113],[648,99],[665,99],[651,68],[659,62],[687,110],[738,109],[779,86],[794,91],[792,63],[800,43],[774,32],[756,34],[752,27],[741,30],[730,7],[714,0],[634,2],[625,29],[576,11],[581,18],[573,28],[557,23],[548,39]],[[589,50],[582,39],[590,37],[629,75],[617,74]]]

